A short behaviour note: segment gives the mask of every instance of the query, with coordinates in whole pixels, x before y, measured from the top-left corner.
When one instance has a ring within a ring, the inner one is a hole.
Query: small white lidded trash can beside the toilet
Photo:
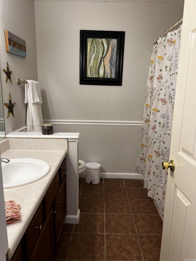
[[[100,182],[100,168],[101,164],[97,162],[86,163],[85,182],[98,184]]]

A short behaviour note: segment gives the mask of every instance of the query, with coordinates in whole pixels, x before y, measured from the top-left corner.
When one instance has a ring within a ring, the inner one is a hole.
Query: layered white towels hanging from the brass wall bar
[[[41,132],[43,117],[41,110],[42,99],[40,92],[40,84],[32,80],[27,81],[28,83],[25,84],[25,103],[28,103],[27,131]]]

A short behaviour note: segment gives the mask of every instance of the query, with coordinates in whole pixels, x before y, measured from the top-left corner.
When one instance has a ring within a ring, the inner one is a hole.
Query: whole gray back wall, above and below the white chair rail
[[[135,173],[134,122],[143,117],[153,40],[183,17],[183,5],[36,1],[35,17],[43,119],[59,121],[54,131],[80,132],[79,158],[99,162],[101,172]],[[125,31],[122,86],[79,84],[81,29]]]

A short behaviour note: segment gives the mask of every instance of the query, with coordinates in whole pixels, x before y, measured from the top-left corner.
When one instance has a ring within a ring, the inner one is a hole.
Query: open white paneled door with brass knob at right
[[[160,261],[196,261],[196,0],[185,0]]]

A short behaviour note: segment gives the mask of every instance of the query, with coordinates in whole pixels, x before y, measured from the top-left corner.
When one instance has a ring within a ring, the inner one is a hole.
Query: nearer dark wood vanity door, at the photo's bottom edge
[[[52,208],[49,211],[46,222],[33,249],[29,261],[51,261],[54,260],[54,234]]]

